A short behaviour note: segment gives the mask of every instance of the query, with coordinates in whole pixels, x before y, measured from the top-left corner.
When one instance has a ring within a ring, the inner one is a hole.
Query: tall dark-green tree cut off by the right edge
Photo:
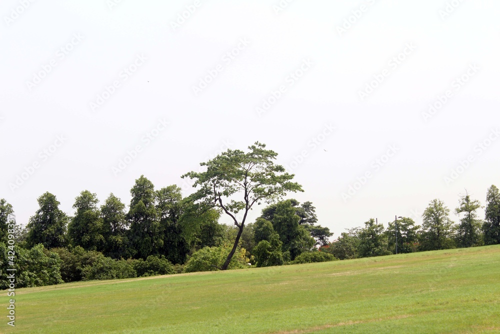
[[[500,244],[500,192],[494,185],[489,187],[486,194],[486,210],[482,231],[484,244]]]

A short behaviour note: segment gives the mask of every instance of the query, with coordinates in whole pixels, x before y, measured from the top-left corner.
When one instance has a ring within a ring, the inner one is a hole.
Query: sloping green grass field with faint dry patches
[[[18,289],[15,328],[1,309],[2,333],[493,333],[500,245]]]

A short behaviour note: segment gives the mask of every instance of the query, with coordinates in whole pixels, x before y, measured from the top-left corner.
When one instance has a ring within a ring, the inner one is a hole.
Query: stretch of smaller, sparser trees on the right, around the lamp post
[[[487,190],[484,219],[477,214],[481,207],[481,203],[467,193],[460,196],[454,209],[460,219],[455,223],[444,202],[433,199],[422,214],[421,226],[415,225],[411,218],[397,217],[388,222],[385,229],[371,218],[364,227],[341,233],[319,250],[343,260],[500,244],[500,192],[496,186],[491,185]]]

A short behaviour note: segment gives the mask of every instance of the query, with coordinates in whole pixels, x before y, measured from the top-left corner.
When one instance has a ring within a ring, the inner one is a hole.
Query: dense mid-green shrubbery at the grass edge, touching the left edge
[[[8,288],[7,256],[9,249],[0,242],[0,289]],[[33,287],[63,283],[60,275],[61,260],[57,253],[46,250],[42,244],[31,249],[14,247],[15,287]],[[11,266],[9,266],[11,267]]]

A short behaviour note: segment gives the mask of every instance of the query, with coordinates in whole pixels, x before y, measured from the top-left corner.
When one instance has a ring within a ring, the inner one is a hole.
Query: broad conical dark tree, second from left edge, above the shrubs
[[[31,248],[41,243],[47,249],[64,247],[67,244],[67,215],[59,210],[59,202],[49,192],[38,197],[39,209],[29,218],[26,246]]]

